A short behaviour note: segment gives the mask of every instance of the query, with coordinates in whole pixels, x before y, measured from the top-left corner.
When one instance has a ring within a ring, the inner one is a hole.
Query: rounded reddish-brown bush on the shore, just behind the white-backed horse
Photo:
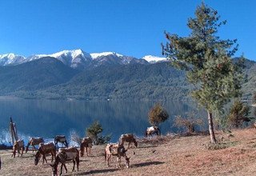
[[[169,114],[160,103],[155,104],[148,114],[149,122],[152,126],[158,126],[159,123],[165,122],[169,118]]]

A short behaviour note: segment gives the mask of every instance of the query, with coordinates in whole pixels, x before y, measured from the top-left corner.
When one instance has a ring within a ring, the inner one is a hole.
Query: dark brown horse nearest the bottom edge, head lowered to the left
[[[58,150],[58,154],[55,158],[55,162],[53,164],[50,164],[50,166],[52,167],[52,175],[53,176],[57,176],[57,170],[58,170],[58,163],[62,163],[62,166],[61,166],[61,173],[60,175],[62,174],[62,167],[64,166],[65,170],[66,170],[66,173],[67,173],[67,169],[66,169],[66,161],[70,161],[72,160],[73,161],[73,170],[74,171],[74,166],[75,166],[75,163],[77,163],[77,169],[78,169],[78,166],[79,166],[79,151],[75,148],[75,147],[71,147],[71,148],[68,148],[68,149],[59,149]]]

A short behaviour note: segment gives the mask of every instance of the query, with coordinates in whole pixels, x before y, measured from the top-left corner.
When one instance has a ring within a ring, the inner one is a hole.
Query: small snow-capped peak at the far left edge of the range
[[[16,54],[0,54],[0,66],[17,65],[26,58]]]

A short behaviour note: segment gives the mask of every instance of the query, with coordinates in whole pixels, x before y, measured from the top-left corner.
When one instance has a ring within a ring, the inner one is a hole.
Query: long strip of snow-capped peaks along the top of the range
[[[74,69],[82,70],[88,67],[95,66],[118,66],[127,64],[149,64],[154,62],[166,61],[166,58],[159,58],[152,55],[146,55],[142,59],[125,56],[115,52],[102,52],[88,54],[83,50],[62,50],[54,54],[34,54],[25,58],[16,54],[0,54],[0,66],[18,65],[24,62],[34,61],[40,58],[57,58],[66,66]]]

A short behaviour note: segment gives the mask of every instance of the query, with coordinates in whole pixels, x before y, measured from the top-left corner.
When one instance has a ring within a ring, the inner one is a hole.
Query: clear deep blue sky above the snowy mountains
[[[256,1],[205,0],[238,39],[237,56],[256,60]],[[142,58],[161,56],[164,30],[187,36],[187,19],[201,0],[0,0],[0,54],[51,54],[82,49]]]

